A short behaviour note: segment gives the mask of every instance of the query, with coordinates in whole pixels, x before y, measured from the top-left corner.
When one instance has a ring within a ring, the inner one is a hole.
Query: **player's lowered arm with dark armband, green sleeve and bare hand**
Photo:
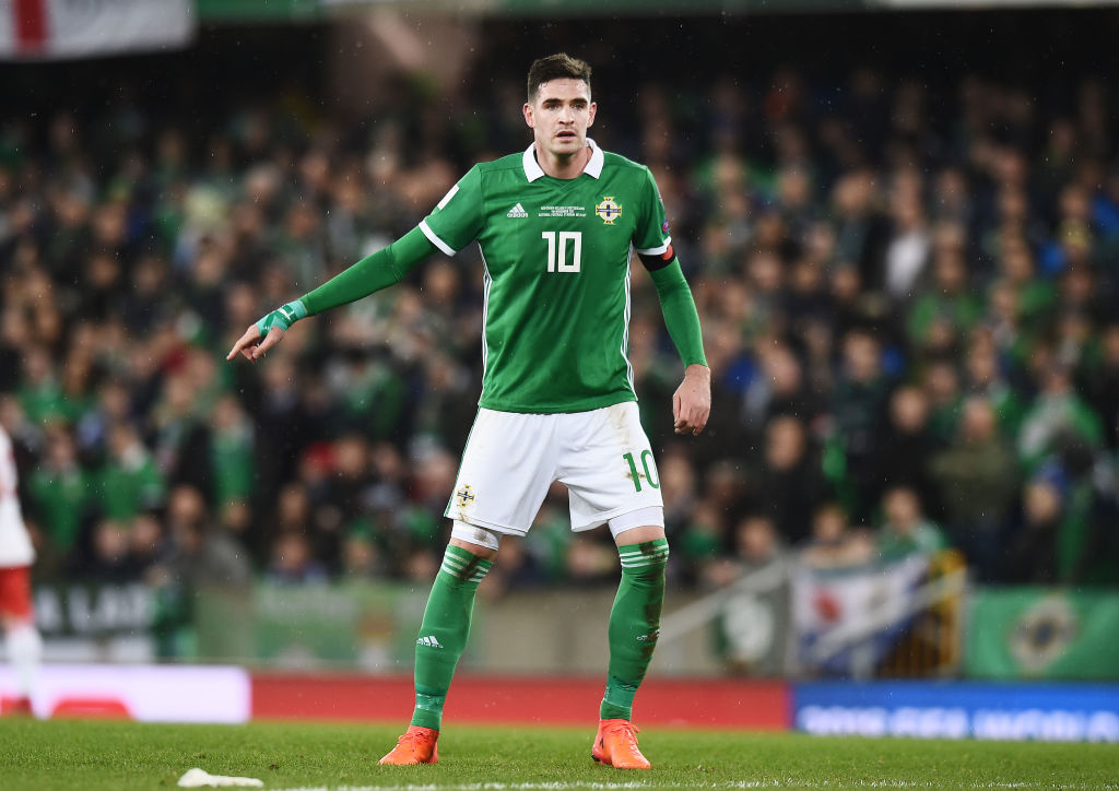
[[[668,255],[671,256],[671,247]],[[676,433],[695,435],[703,431],[711,416],[711,369],[703,352],[696,303],[675,256],[666,262],[662,256],[642,255],[641,261],[657,286],[665,327],[685,366],[684,382],[673,394]]]

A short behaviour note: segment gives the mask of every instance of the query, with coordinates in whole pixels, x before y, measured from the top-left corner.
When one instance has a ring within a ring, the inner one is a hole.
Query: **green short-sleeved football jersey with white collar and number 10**
[[[583,412],[637,401],[628,358],[630,254],[670,237],[652,173],[593,140],[574,179],[530,145],[476,164],[420,224],[448,255],[477,241],[486,266],[482,395],[501,412]]]

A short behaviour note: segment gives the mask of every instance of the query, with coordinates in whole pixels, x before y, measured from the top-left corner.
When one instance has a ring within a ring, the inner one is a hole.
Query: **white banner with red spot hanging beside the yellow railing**
[[[798,568],[792,623],[805,669],[868,676],[915,614],[929,558],[913,555],[865,569]]]

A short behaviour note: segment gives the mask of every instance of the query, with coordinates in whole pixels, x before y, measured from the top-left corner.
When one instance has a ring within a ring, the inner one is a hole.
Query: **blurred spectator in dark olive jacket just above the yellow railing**
[[[1000,542],[1018,486],[1015,462],[995,407],[981,396],[965,402],[956,441],[930,462],[948,534],[980,582],[997,580],[1002,567]]]

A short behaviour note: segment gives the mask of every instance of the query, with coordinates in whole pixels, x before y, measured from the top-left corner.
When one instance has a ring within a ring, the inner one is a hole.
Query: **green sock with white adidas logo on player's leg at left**
[[[448,546],[443,565],[431,586],[416,640],[416,708],[412,724],[440,729],[443,703],[454,666],[467,647],[478,583],[493,565],[477,555]]]

